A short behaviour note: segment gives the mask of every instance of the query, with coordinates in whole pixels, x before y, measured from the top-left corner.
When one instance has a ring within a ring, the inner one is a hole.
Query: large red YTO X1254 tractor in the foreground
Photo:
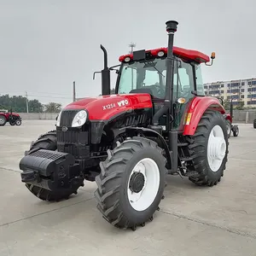
[[[122,55],[113,67],[101,45],[102,96],[63,108],[56,129],[38,137],[20,160],[21,180],[33,195],[60,201],[77,194],[84,179],[96,181],[103,218],[136,230],[159,210],[167,174],[200,186],[220,181],[229,143],[223,106],[204,94],[201,63],[210,58],[173,47],[177,21],[167,21],[166,31],[168,48]]]

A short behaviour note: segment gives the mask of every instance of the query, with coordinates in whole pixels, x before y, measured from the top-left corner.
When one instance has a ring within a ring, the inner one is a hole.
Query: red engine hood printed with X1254
[[[65,109],[86,109],[90,120],[108,120],[118,113],[140,108],[153,108],[149,94],[86,97],[78,102],[72,102]]]

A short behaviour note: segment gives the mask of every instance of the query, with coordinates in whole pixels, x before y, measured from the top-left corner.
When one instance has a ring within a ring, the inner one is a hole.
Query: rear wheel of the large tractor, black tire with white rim
[[[216,185],[224,176],[229,153],[224,116],[218,111],[205,112],[194,136],[188,137],[188,142],[195,168],[191,170],[195,175],[189,180],[197,185]]]

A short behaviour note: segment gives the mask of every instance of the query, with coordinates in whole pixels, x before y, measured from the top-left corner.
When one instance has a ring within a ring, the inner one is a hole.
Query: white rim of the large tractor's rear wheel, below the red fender
[[[219,125],[212,128],[207,145],[207,160],[212,172],[217,172],[226,154],[224,132]]]

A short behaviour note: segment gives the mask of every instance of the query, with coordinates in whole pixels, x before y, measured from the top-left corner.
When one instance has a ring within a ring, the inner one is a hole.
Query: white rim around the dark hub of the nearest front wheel
[[[143,189],[136,193],[132,192],[129,185],[134,172],[141,172],[144,177]],[[133,168],[128,180],[127,192],[131,207],[136,211],[144,211],[153,203],[160,186],[160,171],[156,162],[150,158],[140,160]]]

